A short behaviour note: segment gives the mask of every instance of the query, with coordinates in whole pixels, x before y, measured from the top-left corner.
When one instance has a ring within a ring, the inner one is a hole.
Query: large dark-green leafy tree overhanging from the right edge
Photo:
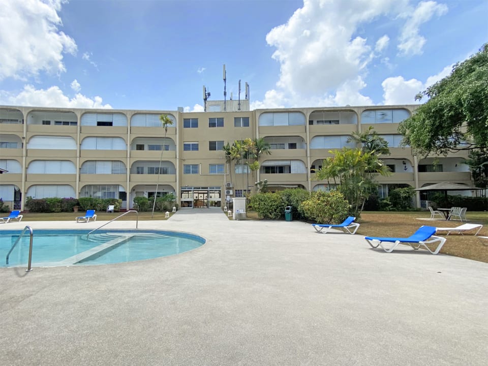
[[[429,100],[404,120],[403,143],[419,155],[488,147],[488,43],[419,93]]]

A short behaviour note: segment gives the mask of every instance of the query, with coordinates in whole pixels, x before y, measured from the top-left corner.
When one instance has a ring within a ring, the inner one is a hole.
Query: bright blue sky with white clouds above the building
[[[411,104],[488,41],[488,0],[0,0],[0,104]],[[243,98],[243,93],[241,94]]]

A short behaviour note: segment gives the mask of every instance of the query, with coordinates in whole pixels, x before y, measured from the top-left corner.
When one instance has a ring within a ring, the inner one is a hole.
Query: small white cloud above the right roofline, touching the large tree
[[[381,86],[383,86],[383,103],[385,105],[418,103],[415,101],[415,96],[448,76],[452,71],[452,66],[446,66],[438,74],[429,76],[425,83],[417,79],[405,80],[403,76],[395,76],[383,80],[381,83]]]

